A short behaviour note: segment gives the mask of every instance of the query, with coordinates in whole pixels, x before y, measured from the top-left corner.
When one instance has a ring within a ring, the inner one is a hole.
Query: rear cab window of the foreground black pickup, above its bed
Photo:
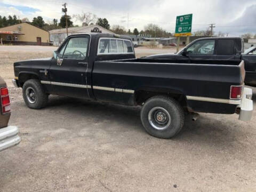
[[[131,41],[117,38],[100,38],[98,46],[98,55],[129,53],[133,53]]]

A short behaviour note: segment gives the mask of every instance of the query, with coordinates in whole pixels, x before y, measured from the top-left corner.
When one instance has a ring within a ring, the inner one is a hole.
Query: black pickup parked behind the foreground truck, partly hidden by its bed
[[[199,38],[188,44],[177,54],[150,55],[150,59],[223,59],[243,60],[246,71],[244,83],[256,86],[256,51],[255,47],[244,52],[241,37],[207,37]]]

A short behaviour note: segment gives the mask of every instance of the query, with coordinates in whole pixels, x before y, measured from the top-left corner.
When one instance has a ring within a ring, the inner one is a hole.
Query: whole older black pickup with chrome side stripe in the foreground
[[[119,35],[70,35],[52,58],[15,62],[14,74],[29,108],[45,107],[49,94],[142,106],[141,122],[158,138],[178,134],[186,112],[249,121],[253,110],[243,61],[136,59]]]

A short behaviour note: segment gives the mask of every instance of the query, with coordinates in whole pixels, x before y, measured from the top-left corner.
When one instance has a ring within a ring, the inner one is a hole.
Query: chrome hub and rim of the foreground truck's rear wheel
[[[171,116],[163,107],[154,107],[148,113],[148,121],[157,130],[165,130],[171,125]]]

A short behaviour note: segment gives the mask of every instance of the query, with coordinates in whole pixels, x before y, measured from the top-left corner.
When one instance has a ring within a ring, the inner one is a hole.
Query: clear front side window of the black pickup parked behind
[[[201,40],[188,47],[188,54],[213,54],[215,40]]]

